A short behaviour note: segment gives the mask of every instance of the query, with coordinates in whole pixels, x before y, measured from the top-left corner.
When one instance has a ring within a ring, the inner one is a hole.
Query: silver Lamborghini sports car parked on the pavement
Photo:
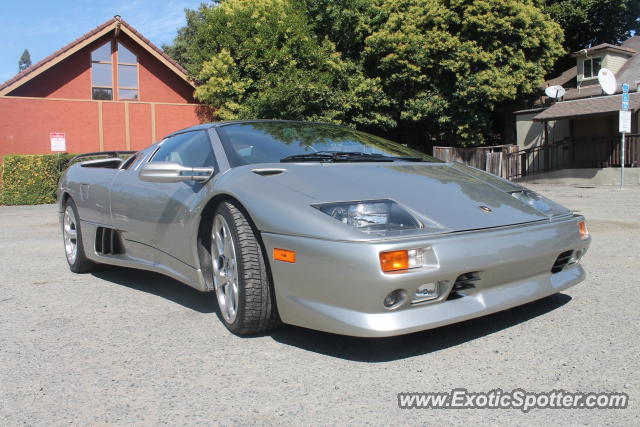
[[[349,128],[213,123],[126,159],[106,154],[115,156],[85,157],[60,180],[71,270],[134,267],[215,293],[236,334],[280,322],[405,334],[585,277],[583,217],[494,175]]]

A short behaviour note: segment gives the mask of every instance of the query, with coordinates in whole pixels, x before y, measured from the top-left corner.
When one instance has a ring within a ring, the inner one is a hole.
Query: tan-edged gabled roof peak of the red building
[[[171,69],[174,73],[176,73],[179,77],[193,86],[193,83],[188,78],[187,70],[185,70],[180,64],[178,64],[173,58],[167,55],[162,51],[159,47],[153,44],[149,39],[140,34],[135,28],[129,25],[125,20],[120,18],[119,16],[115,16],[105,23],[98,25],[93,30],[84,34],[83,36],[77,38],[72,41],[68,45],[59,49],[58,51],[52,53],[46,58],[36,62],[29,68],[21,71],[16,74],[11,79],[6,82],[0,84],[0,96],[6,95],[9,92],[15,90],[17,87],[22,86],[24,83],[28,82],[32,78],[40,75],[42,72],[51,68],[55,64],[64,60],[65,58],[71,56],[78,50],[83,47],[89,45],[93,41],[98,38],[104,36],[105,34],[110,33],[111,31],[122,31],[131,37],[135,42],[140,44],[143,48],[145,48],[151,55],[155,56],[160,62],[167,65],[169,69]]]

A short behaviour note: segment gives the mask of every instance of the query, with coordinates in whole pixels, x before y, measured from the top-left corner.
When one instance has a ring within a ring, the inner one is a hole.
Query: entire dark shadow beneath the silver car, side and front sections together
[[[168,299],[188,309],[220,317],[213,294],[204,294],[170,277],[121,267],[106,267],[92,274],[111,283]],[[389,362],[455,347],[542,316],[569,301],[569,295],[555,294],[466,322],[390,338],[349,337],[289,325],[254,337],[270,336],[281,344],[345,360]]]

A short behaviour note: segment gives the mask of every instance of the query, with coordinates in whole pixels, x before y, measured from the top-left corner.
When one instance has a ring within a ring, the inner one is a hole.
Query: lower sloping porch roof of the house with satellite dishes
[[[619,111],[621,105],[622,95],[599,96],[595,98],[556,102],[535,116],[533,120],[558,120],[567,117],[612,113]],[[632,111],[637,111],[640,108],[640,93],[635,92],[629,94],[629,108]]]

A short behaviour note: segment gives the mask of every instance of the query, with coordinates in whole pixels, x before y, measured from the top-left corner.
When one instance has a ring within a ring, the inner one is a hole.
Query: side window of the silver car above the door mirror
[[[186,132],[167,138],[151,161],[176,162],[194,168],[215,165],[213,148],[205,131]]]

